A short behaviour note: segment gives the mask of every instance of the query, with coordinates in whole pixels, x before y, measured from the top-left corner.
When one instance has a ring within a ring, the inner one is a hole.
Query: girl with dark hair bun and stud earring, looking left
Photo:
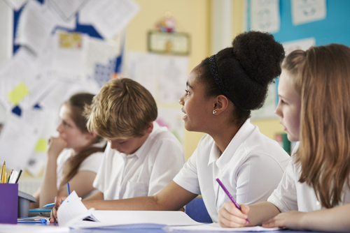
[[[229,200],[217,177],[239,202],[253,204],[269,197],[290,156],[249,117],[263,105],[268,84],[281,73],[284,50],[271,34],[258,31],[240,34],[232,45],[204,59],[188,77],[180,99],[185,128],[207,134],[174,180],[152,197],[83,202],[85,206],[176,211],[202,194],[217,222],[218,208]]]

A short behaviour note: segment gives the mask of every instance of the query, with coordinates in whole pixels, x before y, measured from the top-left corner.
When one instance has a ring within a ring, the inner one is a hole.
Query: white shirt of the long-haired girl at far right
[[[278,188],[274,190],[274,193],[272,193],[267,201],[274,204],[281,212],[309,212],[324,209],[321,208],[314,189],[308,186],[307,183],[300,183],[298,181],[300,174],[300,165],[296,164],[294,159],[292,159],[286,168],[286,172],[283,174]],[[348,203],[350,203],[350,189],[349,186],[345,185],[342,202],[339,206]]]

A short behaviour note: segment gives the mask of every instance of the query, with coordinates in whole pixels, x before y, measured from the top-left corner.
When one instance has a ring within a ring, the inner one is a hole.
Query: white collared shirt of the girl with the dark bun
[[[204,135],[174,181],[191,193],[202,194],[211,219],[218,222],[218,209],[230,199],[216,178],[240,204],[266,201],[289,159],[276,141],[262,135],[248,119],[222,154],[213,138]]]

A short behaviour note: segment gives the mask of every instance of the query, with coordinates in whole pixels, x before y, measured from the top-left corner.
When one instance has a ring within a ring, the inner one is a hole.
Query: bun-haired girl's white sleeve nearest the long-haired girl
[[[254,204],[266,201],[282,176],[283,170],[274,158],[266,154],[248,155],[236,174],[237,202]]]

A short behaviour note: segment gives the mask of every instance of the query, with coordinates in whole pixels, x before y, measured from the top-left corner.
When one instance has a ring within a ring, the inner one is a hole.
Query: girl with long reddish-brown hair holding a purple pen
[[[279,105],[288,139],[299,141],[267,202],[226,202],[223,227],[251,225],[349,232],[350,47],[330,44],[291,52],[282,63]]]

